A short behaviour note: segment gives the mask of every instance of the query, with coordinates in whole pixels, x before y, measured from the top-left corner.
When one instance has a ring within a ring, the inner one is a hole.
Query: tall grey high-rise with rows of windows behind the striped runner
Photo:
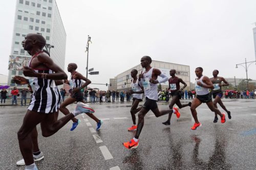
[[[66,32],[55,0],[17,0],[12,37],[11,55],[8,64],[8,85],[17,86],[11,78],[23,75],[19,68],[30,59],[22,41],[29,33],[38,33],[46,38],[51,58],[62,69],[65,67]]]

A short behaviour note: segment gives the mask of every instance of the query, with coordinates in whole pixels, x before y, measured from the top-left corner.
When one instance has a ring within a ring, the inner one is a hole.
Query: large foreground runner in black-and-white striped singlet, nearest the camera
[[[67,79],[67,75],[46,53],[41,51],[46,44],[44,37],[39,34],[28,34],[22,44],[24,50],[33,55],[29,67],[23,67],[24,76],[30,79],[14,76],[13,81],[21,85],[30,84],[34,93],[17,135],[19,149],[26,164],[25,169],[37,169],[33,159],[31,136],[36,125],[40,123],[42,135],[48,137],[66,125],[74,116],[83,112],[94,112],[94,110],[83,103],[78,103],[75,111],[56,120],[59,95],[53,80]]]

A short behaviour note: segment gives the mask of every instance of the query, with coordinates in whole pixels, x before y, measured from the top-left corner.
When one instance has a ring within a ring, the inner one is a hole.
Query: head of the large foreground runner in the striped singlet
[[[33,48],[42,48],[46,45],[46,39],[40,34],[28,34],[22,41],[24,50],[31,51]]]

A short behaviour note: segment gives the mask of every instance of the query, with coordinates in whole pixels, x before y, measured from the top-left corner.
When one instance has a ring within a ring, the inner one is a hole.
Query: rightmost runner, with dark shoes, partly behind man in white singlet
[[[221,87],[228,86],[229,83],[223,77],[218,77],[218,75],[219,75],[219,71],[215,69],[214,71],[212,71],[212,76],[214,77],[210,78],[211,83],[214,84],[214,89],[212,89],[212,92],[211,92],[212,96],[214,97],[214,106],[218,108],[217,103],[219,103],[222,109],[224,109],[227,112],[228,118],[231,119],[230,111],[226,109],[226,107],[221,101],[221,98],[223,95]],[[217,114],[215,113],[214,123],[217,123],[217,122],[218,122],[218,117],[217,117]]]

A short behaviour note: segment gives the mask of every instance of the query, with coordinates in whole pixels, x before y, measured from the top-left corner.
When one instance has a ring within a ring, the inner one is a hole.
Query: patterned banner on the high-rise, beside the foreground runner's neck
[[[23,66],[28,66],[30,57],[9,56],[8,69],[22,70]]]

